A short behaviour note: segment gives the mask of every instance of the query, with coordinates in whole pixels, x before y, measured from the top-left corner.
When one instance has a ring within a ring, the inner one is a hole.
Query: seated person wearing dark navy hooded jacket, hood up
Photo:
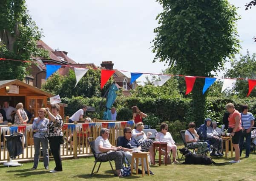
[[[221,153],[222,139],[213,128],[212,120],[210,118],[205,119],[204,124],[200,126],[199,130],[201,138],[207,141],[210,145],[213,145],[213,150],[212,153],[210,153],[210,156],[223,156]]]

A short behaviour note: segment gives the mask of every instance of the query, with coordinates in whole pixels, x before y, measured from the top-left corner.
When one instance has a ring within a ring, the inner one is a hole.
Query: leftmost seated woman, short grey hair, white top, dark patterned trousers
[[[96,152],[96,154],[108,152],[108,155],[106,153],[100,154],[98,161],[106,162],[108,160],[108,158],[110,160],[114,160],[115,161],[115,172],[116,172],[115,174],[116,174],[116,176],[121,177],[122,176],[121,168],[124,163],[124,151],[121,151],[123,148],[120,146],[119,147],[112,146],[110,144],[108,138],[109,138],[108,129],[101,128],[100,136],[98,136],[95,139],[95,152]]]

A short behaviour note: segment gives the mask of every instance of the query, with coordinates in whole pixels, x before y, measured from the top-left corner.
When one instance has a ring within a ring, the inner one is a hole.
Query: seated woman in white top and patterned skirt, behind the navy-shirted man
[[[132,136],[136,139],[138,144],[141,146],[141,150],[150,152],[150,162],[153,163],[153,160],[154,160],[153,140],[149,139],[152,133],[148,132],[146,136],[144,131],[142,131],[143,129],[144,129],[143,123],[138,122],[136,124],[136,129],[132,130]]]

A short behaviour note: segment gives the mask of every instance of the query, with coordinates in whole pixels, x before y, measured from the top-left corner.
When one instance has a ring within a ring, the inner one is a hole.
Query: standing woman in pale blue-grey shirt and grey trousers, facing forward
[[[48,127],[49,120],[45,117],[47,115],[46,109],[41,108],[38,111],[38,117],[34,119],[32,129],[34,132],[34,166],[32,170],[37,169],[39,154],[40,154],[40,144],[42,143],[43,147],[43,165],[46,170],[49,166],[49,155],[48,155],[48,139],[46,138],[46,131]]]

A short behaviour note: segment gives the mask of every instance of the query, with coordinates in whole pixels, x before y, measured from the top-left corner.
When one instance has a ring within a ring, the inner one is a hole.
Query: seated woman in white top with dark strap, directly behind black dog
[[[199,136],[195,127],[196,124],[194,122],[189,123],[188,130],[185,132],[185,141],[187,142],[187,145],[197,148],[197,154],[205,155],[208,150],[207,142],[197,142],[199,140]]]

